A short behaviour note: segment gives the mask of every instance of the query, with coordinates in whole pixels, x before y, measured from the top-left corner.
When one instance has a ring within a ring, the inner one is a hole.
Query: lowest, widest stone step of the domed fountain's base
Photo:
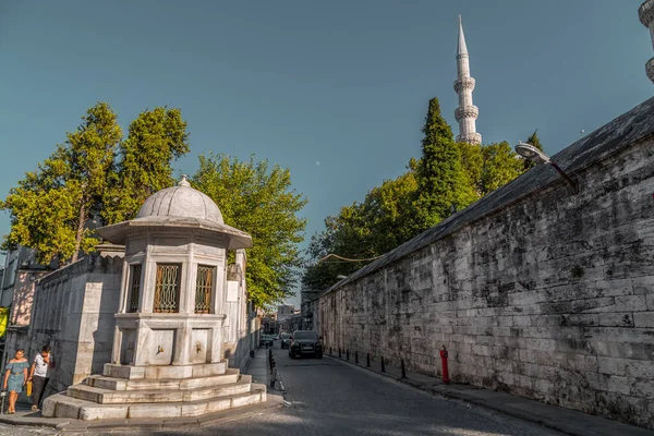
[[[250,391],[243,393],[167,403],[98,404],[56,393],[46,398],[41,414],[46,417],[68,417],[84,421],[134,417],[191,417],[265,402],[266,398],[266,386],[258,384],[252,384]]]

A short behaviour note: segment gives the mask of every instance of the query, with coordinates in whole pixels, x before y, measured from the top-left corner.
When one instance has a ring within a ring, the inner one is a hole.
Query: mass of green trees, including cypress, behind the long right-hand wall
[[[325,230],[312,237],[306,250],[305,287],[328,288],[338,276],[349,276],[368,263],[317,262],[327,254],[352,259],[383,255],[525,170],[506,142],[455,143],[436,98],[429,100],[423,134],[422,156],[411,159],[407,173],[384,181],[363,203],[341,207],[338,215],[325,219]],[[540,145],[537,137],[535,143]]]

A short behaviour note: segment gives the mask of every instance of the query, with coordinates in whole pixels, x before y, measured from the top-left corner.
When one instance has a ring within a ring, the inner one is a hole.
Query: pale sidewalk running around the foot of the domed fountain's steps
[[[254,358],[251,359],[247,370],[243,374],[252,375],[252,383],[268,384],[268,350],[255,350]],[[7,404],[5,404],[7,407]],[[220,422],[243,419],[253,414],[283,407],[283,398],[275,391],[267,392],[267,401],[245,405],[237,409],[228,409],[216,413],[209,413],[197,417],[175,417],[175,419],[132,419],[132,420],[97,420],[82,421],[71,419],[43,417],[40,412],[32,412],[28,404],[16,403],[15,414],[0,414],[0,422],[13,425],[31,425],[39,427],[53,427],[62,432],[93,432],[109,431],[121,428],[140,429],[162,429],[162,428],[187,428],[204,427],[218,424]]]

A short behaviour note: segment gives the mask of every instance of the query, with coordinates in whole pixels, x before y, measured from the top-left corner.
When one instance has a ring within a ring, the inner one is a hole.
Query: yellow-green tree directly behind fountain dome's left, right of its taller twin
[[[134,218],[147,197],[174,185],[172,161],[189,150],[186,122],[180,109],[157,107],[141,112],[120,144],[102,218],[108,223]]]

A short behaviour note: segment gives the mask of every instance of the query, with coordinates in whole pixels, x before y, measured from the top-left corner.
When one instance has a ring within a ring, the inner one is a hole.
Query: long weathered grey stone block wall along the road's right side
[[[654,428],[654,99],[319,298],[326,347]],[[550,174],[552,173],[552,174]]]

